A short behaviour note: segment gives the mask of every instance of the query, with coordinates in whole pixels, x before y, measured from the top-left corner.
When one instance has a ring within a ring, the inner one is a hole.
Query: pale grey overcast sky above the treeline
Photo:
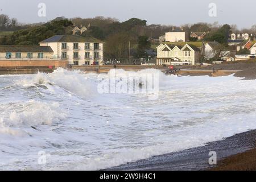
[[[46,5],[46,16],[38,15],[39,3]],[[214,3],[216,9],[210,3]],[[250,28],[256,24],[255,8],[255,0],[0,0],[0,14],[8,14],[22,23],[47,22],[57,16],[105,16],[121,22],[140,18],[146,19],[147,24],[180,26],[218,22]]]

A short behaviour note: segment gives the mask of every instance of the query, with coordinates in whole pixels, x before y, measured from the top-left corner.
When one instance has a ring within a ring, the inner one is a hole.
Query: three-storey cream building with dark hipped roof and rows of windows
[[[104,63],[104,43],[95,38],[55,35],[39,44],[51,47],[53,58],[68,60],[69,64],[102,65]]]

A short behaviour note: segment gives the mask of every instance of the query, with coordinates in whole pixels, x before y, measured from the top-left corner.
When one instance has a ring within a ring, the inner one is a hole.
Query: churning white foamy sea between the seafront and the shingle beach
[[[0,169],[103,169],[256,129],[256,81],[159,74],[159,97],[100,94],[110,74],[1,76]],[[44,166],[38,152],[49,154]]]

